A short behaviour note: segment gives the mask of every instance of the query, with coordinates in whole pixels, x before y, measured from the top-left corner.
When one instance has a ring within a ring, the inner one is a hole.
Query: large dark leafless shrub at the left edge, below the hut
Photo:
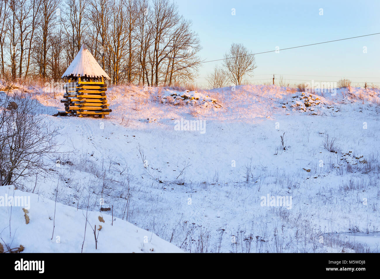
[[[11,102],[16,109],[11,109]],[[7,95],[0,101],[0,110],[0,185],[49,172],[45,160],[56,151],[58,132],[40,113],[37,101],[24,93]]]

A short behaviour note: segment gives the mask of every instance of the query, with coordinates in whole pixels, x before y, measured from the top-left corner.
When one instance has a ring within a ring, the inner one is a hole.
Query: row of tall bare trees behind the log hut
[[[201,46],[169,0],[0,0],[2,79],[60,80],[85,44],[112,84],[193,80]]]

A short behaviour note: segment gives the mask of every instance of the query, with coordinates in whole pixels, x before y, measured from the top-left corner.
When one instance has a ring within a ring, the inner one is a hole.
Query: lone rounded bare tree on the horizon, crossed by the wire
[[[250,76],[257,68],[255,56],[243,44],[232,44],[231,48],[224,55],[224,66],[228,71],[228,76],[236,85],[241,85],[245,75]]]

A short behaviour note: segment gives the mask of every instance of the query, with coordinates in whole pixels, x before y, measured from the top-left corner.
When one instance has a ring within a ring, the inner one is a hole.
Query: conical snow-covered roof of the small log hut
[[[95,58],[92,56],[91,52],[86,46],[82,45],[78,54],[68,66],[63,77],[70,76],[86,76],[86,77],[104,77],[105,79],[110,79],[108,74],[101,68]]]

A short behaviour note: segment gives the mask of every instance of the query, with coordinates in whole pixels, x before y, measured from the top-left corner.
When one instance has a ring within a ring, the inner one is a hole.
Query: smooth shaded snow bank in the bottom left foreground
[[[30,202],[24,206],[4,206],[0,210],[1,239],[11,248],[24,246],[24,252],[78,253],[82,251],[84,232],[87,227],[83,252],[182,252],[173,244],[162,240],[152,232],[140,229],[129,222],[101,212],[81,210],[71,206],[56,204],[42,195],[14,190],[12,186],[0,187],[0,204],[4,197],[26,197]],[[11,205],[11,204],[9,204]],[[29,222],[25,222],[23,208],[29,205]],[[55,210],[55,218],[54,218]],[[99,216],[104,222],[99,220]],[[10,221],[9,221],[10,220]],[[10,224],[10,227],[9,227]],[[53,224],[54,233],[53,233]],[[96,225],[97,249],[93,230]],[[98,231],[101,225],[101,230]],[[9,234],[10,233],[10,234]],[[11,235],[11,237],[9,237]]]

